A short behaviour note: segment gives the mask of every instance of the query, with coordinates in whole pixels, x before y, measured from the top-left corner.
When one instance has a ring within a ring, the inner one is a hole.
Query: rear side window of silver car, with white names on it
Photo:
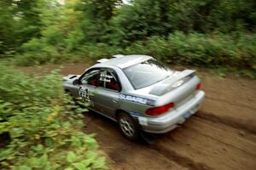
[[[102,88],[108,88],[114,91],[120,91],[121,89],[118,76],[112,69],[103,69],[100,72],[98,86]]]

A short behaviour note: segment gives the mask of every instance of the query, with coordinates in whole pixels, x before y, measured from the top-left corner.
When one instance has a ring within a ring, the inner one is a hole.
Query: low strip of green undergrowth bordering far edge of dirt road
[[[17,57],[20,65],[78,62],[86,58],[108,58],[113,54],[148,54],[172,64],[195,65],[208,68],[229,67],[241,75],[256,75],[256,35],[234,32],[233,34],[188,33],[176,31],[166,37],[153,36],[132,42],[128,47],[108,43],[87,43],[76,51],[56,51],[54,46],[32,40],[24,45],[27,52]],[[254,73],[252,73],[253,71]]]

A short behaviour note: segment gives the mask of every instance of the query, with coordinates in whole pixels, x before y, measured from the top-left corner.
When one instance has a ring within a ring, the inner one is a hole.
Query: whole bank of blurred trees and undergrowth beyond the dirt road
[[[253,0],[1,0],[0,55],[16,65],[151,54],[256,77]]]

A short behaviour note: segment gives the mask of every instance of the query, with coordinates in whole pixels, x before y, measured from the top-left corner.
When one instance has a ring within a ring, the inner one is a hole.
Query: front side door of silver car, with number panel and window
[[[91,109],[95,109],[94,94],[99,71],[99,69],[91,69],[86,71],[84,75],[79,78],[79,97],[82,99],[82,102],[84,102],[84,105]]]

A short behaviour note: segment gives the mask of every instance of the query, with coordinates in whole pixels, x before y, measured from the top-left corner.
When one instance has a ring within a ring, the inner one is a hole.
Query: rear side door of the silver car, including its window
[[[95,91],[96,110],[106,116],[115,116],[119,105],[119,92],[121,84],[113,69],[101,69]]]

